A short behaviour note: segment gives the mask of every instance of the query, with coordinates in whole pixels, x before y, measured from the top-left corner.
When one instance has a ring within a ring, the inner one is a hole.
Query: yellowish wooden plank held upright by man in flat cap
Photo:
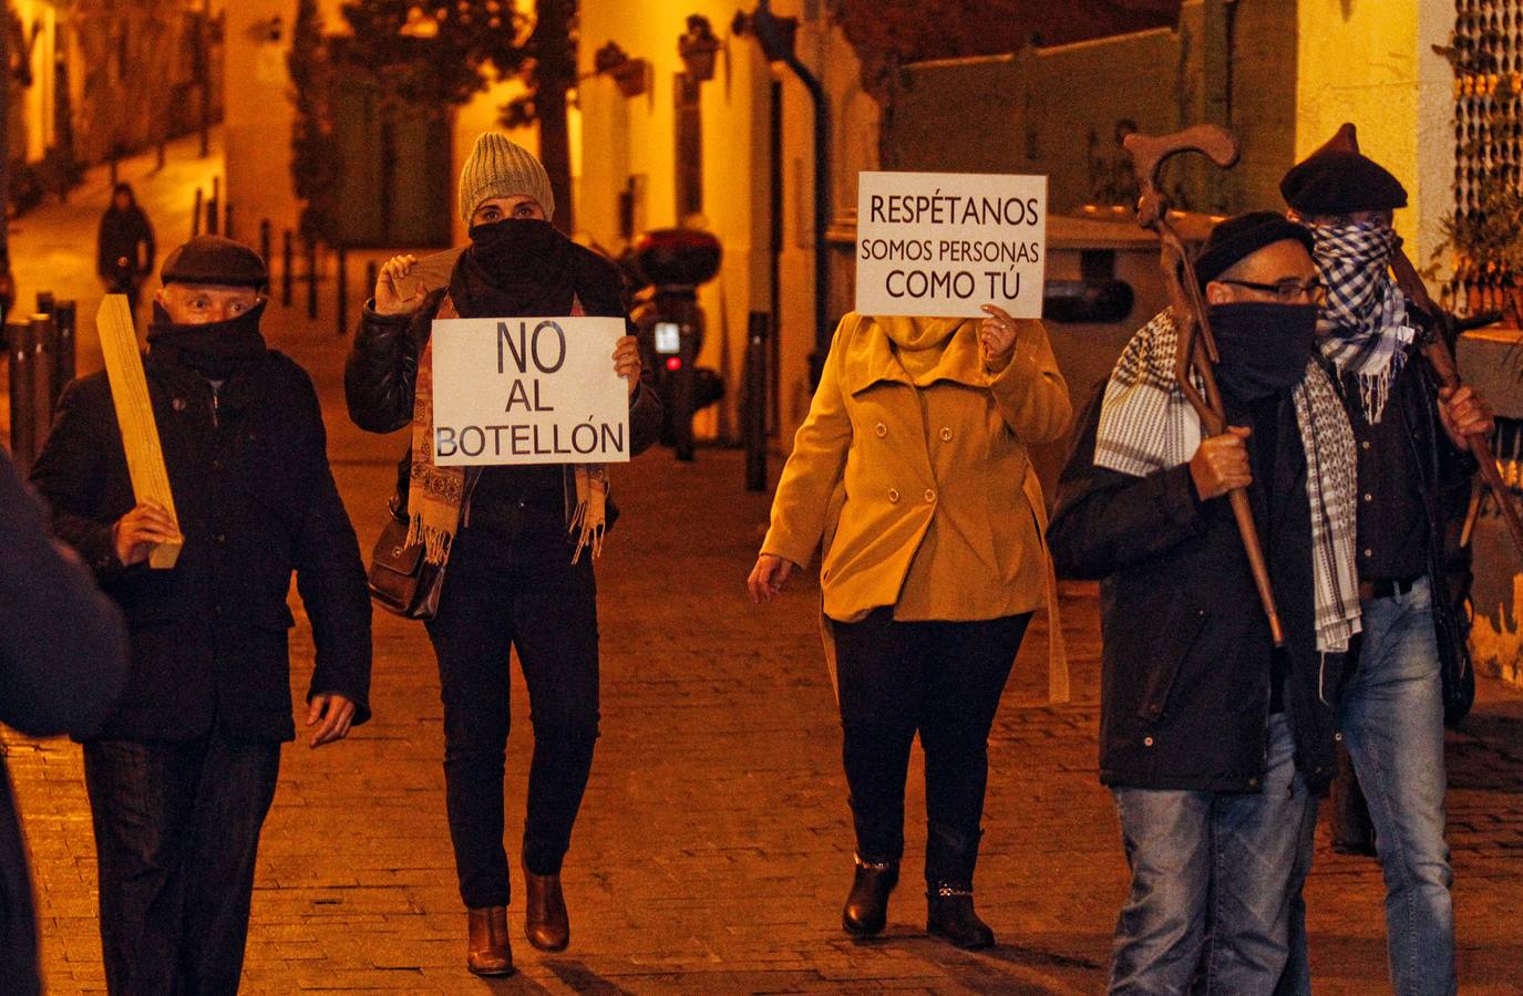
[[[137,348],[133,310],[125,293],[108,293],[101,301],[96,333],[105,359],[105,376],[111,383],[116,424],[122,429],[122,446],[126,449],[133,496],[139,505],[154,502],[163,506],[178,532],[180,515],[175,514],[175,499],[169,493],[169,470],[164,468],[158,423],[154,421],[154,401],[148,394],[148,376],[143,373],[143,356]],[[174,567],[183,544],[183,538],[158,543],[148,555],[148,566],[157,570]]]

